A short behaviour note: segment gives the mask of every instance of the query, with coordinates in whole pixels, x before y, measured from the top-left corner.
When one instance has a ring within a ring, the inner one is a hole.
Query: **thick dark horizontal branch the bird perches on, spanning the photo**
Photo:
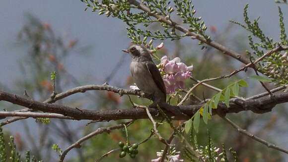
[[[126,91],[126,90],[122,90]],[[58,104],[41,103],[37,101],[28,100],[20,96],[9,94],[4,91],[0,91],[0,101],[10,102],[33,110],[39,110],[43,112],[58,113],[64,116],[70,116],[73,119],[88,119],[97,121],[109,121],[119,119],[144,119],[148,118],[146,111],[142,108],[130,108],[130,109],[113,109],[113,110],[88,110],[83,108],[72,108]],[[227,108],[225,104],[218,104],[218,108],[214,109],[214,114],[223,115],[225,113],[237,113],[240,111],[251,110],[255,113],[269,112],[277,104],[288,102],[288,92],[275,95],[273,99],[269,97],[263,97],[258,99],[241,100],[231,99],[230,108]],[[189,105],[189,106],[170,106],[170,108],[177,108],[182,113],[193,116],[194,113],[201,108],[202,105]],[[157,108],[150,108],[149,112],[154,119],[159,119],[159,111]],[[174,115],[171,112],[165,112],[169,116],[174,116],[173,119],[187,119],[183,115]]]

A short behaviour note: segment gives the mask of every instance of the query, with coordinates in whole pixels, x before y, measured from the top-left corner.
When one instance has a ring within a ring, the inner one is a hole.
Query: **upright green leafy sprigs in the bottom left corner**
[[[24,161],[21,159],[20,154],[16,151],[16,145],[14,143],[14,137],[10,136],[8,142],[8,148],[5,146],[4,134],[2,127],[0,127],[0,162],[6,162],[7,157],[9,162],[43,162],[37,161],[35,156],[30,157],[30,151],[25,154]]]

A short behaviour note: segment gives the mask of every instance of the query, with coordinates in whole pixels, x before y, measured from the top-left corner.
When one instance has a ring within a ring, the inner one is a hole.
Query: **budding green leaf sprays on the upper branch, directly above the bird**
[[[152,17],[147,12],[132,13],[133,8],[137,4],[130,4],[129,0],[103,0],[101,3],[98,0],[88,1],[81,0],[86,5],[92,8],[92,11],[99,11],[99,15],[117,17],[128,25],[127,35],[135,44],[141,44],[141,36],[143,38],[160,39],[160,40],[177,40],[186,35],[178,35],[175,31],[174,24],[167,25],[161,22],[160,19]],[[183,23],[189,24],[189,31],[199,34],[206,40],[210,41],[210,37],[205,34],[207,26],[201,17],[195,17],[196,10],[191,0],[173,0],[176,14],[182,18]],[[175,12],[170,0],[145,0],[143,3],[149,8],[152,14],[163,16],[163,19],[171,21],[170,17]],[[144,30],[143,27],[148,27],[152,23],[158,22],[162,30],[151,32]],[[138,25],[143,25],[137,27]],[[200,43],[201,44],[201,43]]]

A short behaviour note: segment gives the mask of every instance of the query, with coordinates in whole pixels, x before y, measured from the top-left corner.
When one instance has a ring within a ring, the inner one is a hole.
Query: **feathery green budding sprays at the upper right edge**
[[[241,24],[236,21],[231,21],[247,31],[249,31],[255,38],[258,38],[260,42],[254,42],[251,35],[248,36],[248,41],[250,48],[253,50],[253,54],[261,57],[263,56],[264,50],[272,50],[277,47],[277,45],[287,46],[288,39],[285,31],[284,17],[280,7],[278,7],[279,17],[280,17],[280,42],[273,42],[272,38],[267,37],[264,32],[259,27],[259,18],[251,21],[248,16],[248,4],[244,7],[244,24]],[[250,52],[246,51],[251,57],[251,60],[255,60],[254,55],[251,55]],[[261,60],[258,63],[258,70],[267,75],[269,78],[272,78],[276,84],[287,84],[288,83],[288,58],[281,54],[280,52],[273,53]]]

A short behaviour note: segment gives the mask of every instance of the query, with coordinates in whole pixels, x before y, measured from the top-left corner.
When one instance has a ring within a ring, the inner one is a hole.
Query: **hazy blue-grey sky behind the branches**
[[[222,31],[231,19],[243,22],[243,8],[246,3],[249,3],[250,17],[260,16],[260,26],[263,31],[267,36],[278,40],[280,32],[278,4],[274,0],[194,0],[193,2],[197,15],[202,16],[208,27],[214,25],[219,31]],[[284,4],[281,7],[288,29],[288,5]],[[1,0],[0,83],[4,83],[13,91],[11,84],[17,79],[25,79],[20,72],[18,61],[25,56],[26,51],[17,48],[15,42],[19,30],[25,23],[24,14],[30,13],[43,22],[51,24],[58,35],[77,39],[80,47],[92,46],[89,56],[81,56],[75,50],[64,63],[67,69],[81,80],[86,77],[83,73],[91,74],[88,84],[102,84],[103,78],[111,72],[111,67],[123,54],[121,50],[127,48],[130,40],[127,38],[124,22],[116,18],[99,16],[97,12],[91,12],[90,9],[84,11],[84,8],[85,4],[80,0]],[[233,32],[247,35],[243,29],[236,26]],[[168,47],[168,49],[172,48],[172,46]],[[114,78],[117,82],[126,81],[126,77],[130,74],[129,61],[130,56],[127,55],[115,76],[117,79]],[[91,81],[91,77],[94,80]],[[18,127],[19,125],[12,124],[6,128],[16,131]],[[286,140],[280,146],[287,148],[287,144]]]

